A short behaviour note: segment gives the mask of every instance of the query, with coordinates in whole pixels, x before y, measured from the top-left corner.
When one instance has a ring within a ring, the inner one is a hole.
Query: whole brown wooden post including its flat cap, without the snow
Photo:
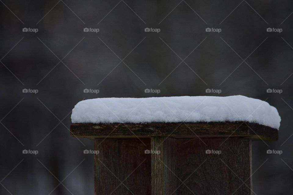
[[[96,195],[251,195],[251,140],[277,140],[278,131],[245,122],[88,123],[71,124],[71,136],[93,139],[99,151]]]

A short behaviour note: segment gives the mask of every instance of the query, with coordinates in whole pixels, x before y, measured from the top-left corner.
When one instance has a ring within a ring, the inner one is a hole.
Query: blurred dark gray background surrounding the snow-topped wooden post
[[[254,192],[293,194],[292,1],[1,0],[0,5],[1,195],[94,193],[93,156],[83,154],[93,142],[69,136],[78,101],[237,94],[267,101],[282,119],[279,141],[253,142]],[[147,88],[161,92],[145,93]],[[266,154],[268,149],[283,153]]]

